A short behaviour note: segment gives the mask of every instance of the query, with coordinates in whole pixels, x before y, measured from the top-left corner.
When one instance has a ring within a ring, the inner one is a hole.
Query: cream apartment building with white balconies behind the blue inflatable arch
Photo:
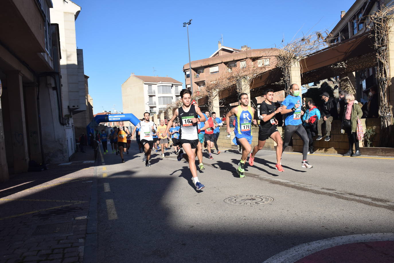
[[[167,104],[179,99],[181,90],[182,82],[173,78],[132,73],[122,84],[123,112],[132,113],[139,119],[143,118],[144,112],[158,114]]]

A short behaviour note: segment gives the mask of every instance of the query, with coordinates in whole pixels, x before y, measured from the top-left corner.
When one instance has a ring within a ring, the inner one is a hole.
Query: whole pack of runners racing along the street
[[[276,144],[276,164],[275,168],[279,172],[284,172],[282,168],[282,153],[290,143],[290,139],[294,132],[303,140],[303,159],[301,167],[312,168],[307,161],[309,151],[309,138],[307,132],[302,126],[301,115],[301,96],[299,86],[292,84],[291,93],[282,102],[280,107],[275,107],[273,103],[273,90],[268,89],[263,92],[264,101],[260,105],[260,119],[258,131],[258,144],[252,149],[252,124],[257,124],[255,109],[249,106],[249,97],[246,93],[238,96],[239,106],[232,108],[226,115],[227,133],[234,136],[233,143],[238,145],[238,150],[242,153],[242,157],[238,163],[236,172],[240,177],[245,177],[245,162],[248,159],[250,166],[253,166],[256,153],[264,147],[268,138],[272,138]],[[195,159],[198,159],[199,170],[204,170],[203,164],[203,145],[207,149],[209,159],[214,159],[212,153],[216,150],[216,154],[220,154],[217,147],[217,139],[219,138],[220,126],[223,121],[216,117],[215,112],[201,112],[199,106],[191,99],[190,90],[182,90],[180,92],[182,106],[173,112],[172,118],[165,125],[164,120],[160,120],[160,124],[156,125],[151,121],[149,112],[145,112],[143,119],[134,127],[133,131],[129,131],[124,127],[123,121],[119,121],[119,127],[111,130],[108,136],[104,130],[101,134],[101,142],[104,154],[108,153],[107,138],[110,137],[112,153],[120,155],[122,162],[124,154],[128,153],[130,142],[134,136],[139,147],[144,152],[143,162],[145,166],[151,166],[152,150],[156,152],[161,150],[162,157],[165,157],[165,151],[171,150],[173,147],[177,154],[178,161],[185,159],[189,163],[193,183],[197,190],[204,188],[197,177],[197,166]],[[284,140],[277,130],[278,120],[275,118],[277,114],[284,115]],[[235,118],[234,128],[232,128],[230,119]],[[178,120],[178,122],[176,122]],[[171,144],[170,144],[171,142]]]

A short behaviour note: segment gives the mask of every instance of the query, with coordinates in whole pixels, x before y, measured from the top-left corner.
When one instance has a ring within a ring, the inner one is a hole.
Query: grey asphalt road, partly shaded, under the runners
[[[238,178],[238,151],[204,153],[197,192],[173,151],[145,167],[132,147],[125,163],[107,153],[98,167],[99,262],[263,262],[306,242],[394,232],[393,159],[314,154],[307,170],[301,154],[285,153],[279,173],[275,152],[260,151]],[[273,201],[223,201],[242,195]]]

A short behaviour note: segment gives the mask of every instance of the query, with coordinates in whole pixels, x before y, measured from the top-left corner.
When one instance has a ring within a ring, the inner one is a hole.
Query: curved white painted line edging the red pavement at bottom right
[[[263,263],[293,263],[303,257],[333,246],[370,241],[394,241],[394,233],[371,233],[331,237],[313,241],[284,250]]]

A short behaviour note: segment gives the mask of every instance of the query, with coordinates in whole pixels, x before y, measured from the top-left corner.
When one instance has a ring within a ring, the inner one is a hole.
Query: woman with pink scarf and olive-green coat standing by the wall
[[[354,100],[353,94],[346,95],[346,103],[344,117],[342,119],[342,130],[348,134],[349,151],[343,156],[357,157],[360,156],[359,140],[357,139],[357,117],[362,117],[362,110],[357,101]],[[353,145],[355,145],[355,153],[353,153]]]

